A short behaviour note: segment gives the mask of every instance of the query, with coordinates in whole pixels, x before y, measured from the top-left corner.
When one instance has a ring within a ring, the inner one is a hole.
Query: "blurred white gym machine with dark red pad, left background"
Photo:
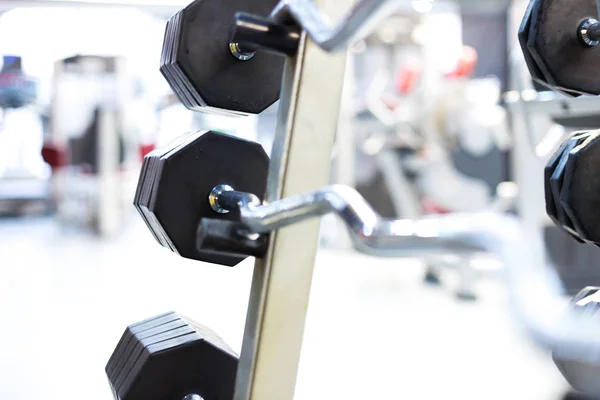
[[[52,167],[61,225],[110,236],[127,220],[126,189],[140,157],[128,119],[132,88],[126,61],[118,57],[75,56],[55,64],[42,154]]]

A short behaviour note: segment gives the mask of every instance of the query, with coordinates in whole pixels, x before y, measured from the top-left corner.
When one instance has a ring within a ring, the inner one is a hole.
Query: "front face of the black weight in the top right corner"
[[[594,0],[540,2],[535,49],[558,86],[600,94],[600,47],[584,46],[578,37],[581,21],[597,13]]]

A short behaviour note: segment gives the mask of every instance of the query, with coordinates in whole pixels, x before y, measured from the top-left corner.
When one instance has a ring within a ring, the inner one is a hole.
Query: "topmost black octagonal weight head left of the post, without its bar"
[[[258,114],[279,99],[283,57],[249,60],[229,48],[236,12],[269,15],[277,0],[196,0],[168,22],[161,72],[179,100],[195,111]]]

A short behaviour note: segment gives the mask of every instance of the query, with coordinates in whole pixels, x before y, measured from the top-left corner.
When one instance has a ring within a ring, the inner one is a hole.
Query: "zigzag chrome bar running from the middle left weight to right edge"
[[[544,261],[543,245],[518,221],[494,213],[455,214],[418,220],[385,220],[354,189],[333,185],[266,205],[249,193],[216,187],[217,212],[239,213],[245,235],[268,233],[307,219],[336,213],[356,248],[380,257],[487,252],[504,265],[511,301],[524,325],[542,345],[568,349],[575,358],[600,356],[600,326],[566,314],[556,274]]]

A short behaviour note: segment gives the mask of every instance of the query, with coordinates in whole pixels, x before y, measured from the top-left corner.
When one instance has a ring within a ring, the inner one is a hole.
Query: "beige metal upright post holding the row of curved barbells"
[[[329,13],[350,4],[315,3]],[[267,202],[328,183],[345,63],[345,53],[326,53],[306,34],[286,61]],[[273,232],[267,256],[256,261],[236,399],[294,396],[319,226],[313,220]]]

